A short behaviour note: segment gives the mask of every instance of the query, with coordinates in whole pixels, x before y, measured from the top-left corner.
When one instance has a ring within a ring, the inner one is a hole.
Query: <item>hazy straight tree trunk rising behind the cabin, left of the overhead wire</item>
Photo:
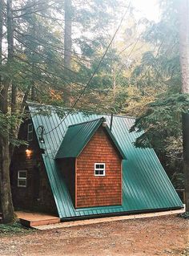
[[[70,63],[71,63],[71,50],[72,50],[72,39],[71,39],[71,26],[72,26],[72,10],[71,0],[64,1],[64,67],[65,75],[70,75]],[[66,106],[70,106],[70,87],[65,86],[63,91],[63,100]]]

